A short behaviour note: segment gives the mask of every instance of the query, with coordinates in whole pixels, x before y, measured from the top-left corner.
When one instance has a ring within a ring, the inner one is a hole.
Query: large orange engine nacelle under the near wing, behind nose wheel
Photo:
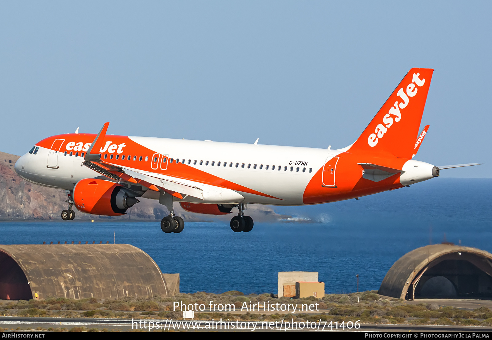
[[[78,181],[73,188],[73,201],[78,210],[88,214],[120,216],[139,202],[128,194],[121,184],[86,178]]]

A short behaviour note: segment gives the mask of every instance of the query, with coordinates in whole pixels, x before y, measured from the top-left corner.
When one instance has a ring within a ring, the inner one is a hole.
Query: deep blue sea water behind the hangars
[[[327,293],[378,289],[405,253],[446,241],[492,252],[492,179],[436,178],[359,200],[273,207],[290,215],[233,232],[227,222],[0,222],[0,244],[110,241],[148,253],[181,292],[277,293],[279,271],[316,271]],[[247,211],[246,211],[247,213]],[[254,218],[254,216],[253,216]]]

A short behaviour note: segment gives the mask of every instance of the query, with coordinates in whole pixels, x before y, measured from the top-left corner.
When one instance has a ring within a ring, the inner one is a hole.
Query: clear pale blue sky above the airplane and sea
[[[2,1],[0,150],[108,133],[340,148],[434,68],[415,159],[492,177],[490,1]]]

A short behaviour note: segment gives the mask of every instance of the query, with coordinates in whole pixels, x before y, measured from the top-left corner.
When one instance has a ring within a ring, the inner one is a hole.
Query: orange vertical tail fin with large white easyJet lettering
[[[412,68],[348,152],[390,153],[412,158],[427,93],[431,68]]]

